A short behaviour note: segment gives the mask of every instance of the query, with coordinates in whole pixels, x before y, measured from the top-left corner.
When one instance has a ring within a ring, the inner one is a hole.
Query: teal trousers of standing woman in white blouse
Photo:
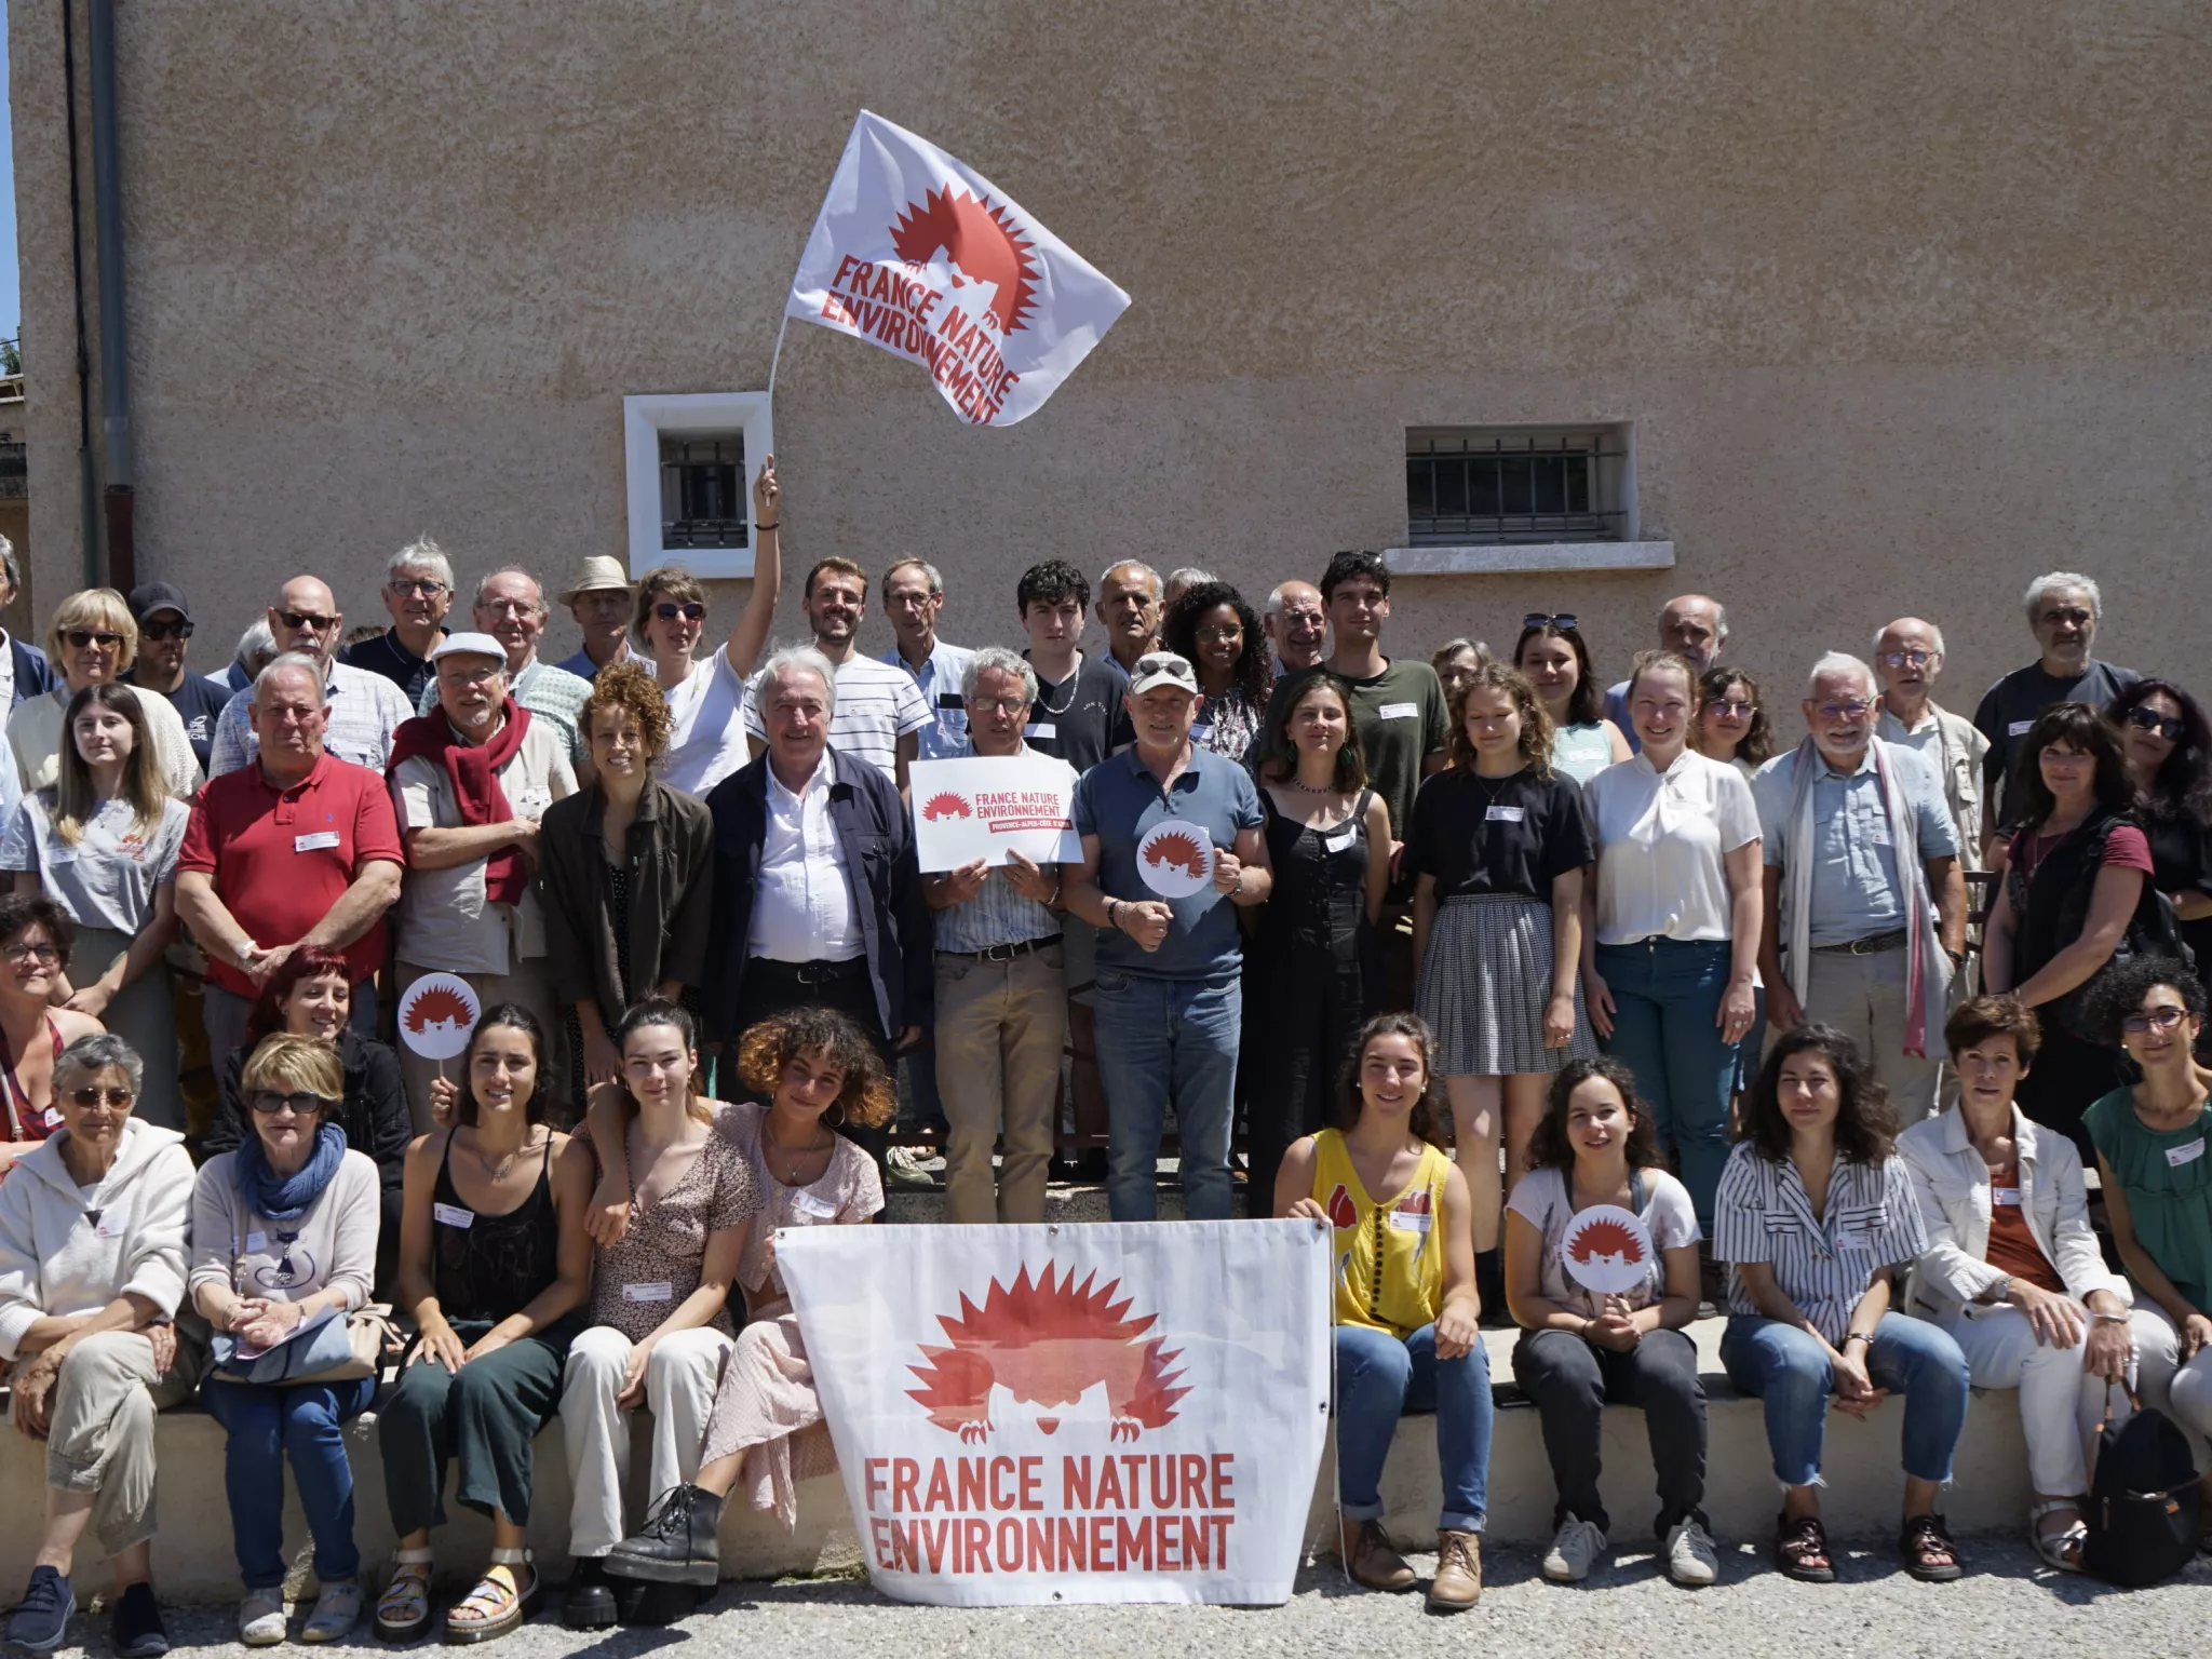
[[[1728,1164],[1728,1095],[1736,1044],[1721,1042],[1728,940],[1650,938],[1599,945],[1597,973],[1613,991],[1613,1035],[1599,1046],[1637,1075],[1659,1150],[1674,1148],[1697,1225],[1712,1237],[1712,1194]]]

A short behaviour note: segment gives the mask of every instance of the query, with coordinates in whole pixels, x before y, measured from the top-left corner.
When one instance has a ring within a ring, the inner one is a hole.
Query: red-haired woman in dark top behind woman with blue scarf
[[[347,978],[345,953],[303,945],[283,960],[252,1013],[246,1015],[246,1042],[221,1066],[221,1099],[204,1157],[234,1152],[252,1139],[252,1113],[246,1106],[246,1060],[270,1035],[314,1037],[336,1044],[345,1091],[334,1106],[323,1108],[323,1121],[336,1124],[347,1148],[365,1152],[376,1164],[378,1230],[376,1294],[389,1290],[400,1261],[400,1190],[407,1179],[407,1146],[414,1141],[414,1115],[407,1110],[407,1086],[400,1082],[400,1057],[376,1037],[363,1037],[347,1020],[354,1013],[354,984]]]

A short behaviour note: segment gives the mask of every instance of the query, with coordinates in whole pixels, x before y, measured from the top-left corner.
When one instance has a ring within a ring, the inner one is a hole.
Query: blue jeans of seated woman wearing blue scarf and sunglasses
[[[223,1425],[223,1491],[248,1590],[283,1584],[283,1460],[292,1458],[299,1506],[314,1535],[314,1575],[349,1584],[361,1573],[354,1546],[354,1467],[345,1460],[343,1425],[369,1409],[376,1378],[263,1387],[210,1376],[201,1387],[208,1416]]]

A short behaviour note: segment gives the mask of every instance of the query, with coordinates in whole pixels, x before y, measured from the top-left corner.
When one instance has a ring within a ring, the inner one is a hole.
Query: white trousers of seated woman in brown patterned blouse
[[[630,1484],[630,1420],[615,1409],[635,1343],[613,1325],[575,1338],[560,1385],[562,1438],[568,1442],[568,1553],[606,1555],[628,1528],[622,1491]],[[730,1338],[714,1329],[664,1336],[646,1360],[653,1413],[648,1504],[699,1473],[699,1442],[714,1409],[714,1385]]]

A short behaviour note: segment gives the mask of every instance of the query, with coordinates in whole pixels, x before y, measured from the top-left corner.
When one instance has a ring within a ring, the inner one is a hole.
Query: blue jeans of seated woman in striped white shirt
[[[1765,1405],[1774,1478],[1785,1486],[1816,1484],[1829,1396],[1836,1391],[1827,1349],[1794,1325],[1730,1314],[1721,1365],[1730,1383]],[[1958,1343],[1924,1318],[1882,1314],[1867,1352],[1867,1376],[1874,1387],[1905,1396],[1905,1473],[1951,1480],[1951,1453],[1966,1427],[1966,1356]],[[1878,1409],[1891,1407],[1885,1402]]]

